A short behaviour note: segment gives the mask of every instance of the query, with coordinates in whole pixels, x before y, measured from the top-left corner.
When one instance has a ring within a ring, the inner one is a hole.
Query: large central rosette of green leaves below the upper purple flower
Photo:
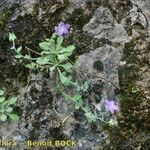
[[[73,65],[68,61],[69,56],[72,55],[75,46],[69,45],[63,47],[63,36],[57,36],[56,33],[52,35],[46,41],[39,44],[41,51],[41,57],[38,57],[36,63],[39,65],[50,65],[49,71],[53,72],[55,69],[64,70],[71,73]]]

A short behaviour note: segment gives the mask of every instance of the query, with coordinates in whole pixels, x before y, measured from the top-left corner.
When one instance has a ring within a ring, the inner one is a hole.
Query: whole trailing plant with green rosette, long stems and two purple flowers
[[[59,91],[62,93],[66,100],[72,100],[75,104],[75,109],[82,109],[85,113],[86,118],[89,122],[96,121],[97,119],[102,122],[106,122],[104,119],[104,114],[102,111],[97,113],[97,111],[92,110],[92,108],[84,103],[82,98],[82,92],[87,92],[89,84],[87,81],[81,83],[78,80],[73,80],[73,64],[70,61],[70,56],[75,50],[74,45],[63,46],[64,36],[68,35],[70,31],[70,25],[61,22],[55,27],[55,33],[52,34],[51,38],[45,39],[45,41],[39,43],[41,52],[35,52],[30,48],[27,50],[38,54],[38,57],[32,58],[30,53],[23,55],[21,53],[22,46],[16,48],[15,40],[17,39],[14,33],[9,33],[9,41],[13,43],[12,50],[15,52],[15,58],[17,59],[27,59],[29,64],[26,65],[30,69],[41,69],[46,70],[50,74],[55,74],[56,85]],[[75,95],[69,95],[65,92],[65,88],[73,87],[76,91]],[[107,103],[109,104],[109,102]],[[110,106],[110,105],[108,105]],[[108,106],[106,108],[108,108]],[[117,106],[111,105],[108,109],[111,111],[117,109]],[[105,109],[106,112],[106,109]],[[110,123],[113,121],[111,120]],[[107,121],[108,123],[108,121]]]

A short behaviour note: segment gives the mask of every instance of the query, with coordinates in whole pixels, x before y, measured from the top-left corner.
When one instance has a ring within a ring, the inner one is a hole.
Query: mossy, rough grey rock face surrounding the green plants
[[[21,116],[18,123],[0,123],[2,140],[16,140],[18,150],[27,148],[27,140],[64,139],[77,144],[60,149],[150,149],[149,0],[2,0],[0,16],[0,85],[19,95]],[[77,47],[75,70],[90,81],[91,105],[115,99],[118,127],[87,124],[82,111],[53,91],[49,76],[31,73],[14,59],[8,32],[18,35],[18,45],[38,49],[61,20],[73,28],[65,44]]]

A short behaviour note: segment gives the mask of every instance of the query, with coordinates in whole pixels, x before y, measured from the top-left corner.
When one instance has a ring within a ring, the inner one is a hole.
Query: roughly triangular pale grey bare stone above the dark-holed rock
[[[128,35],[122,24],[118,24],[110,10],[99,7],[94,12],[90,22],[83,28],[88,34],[97,39],[107,39],[113,43],[125,43]]]

